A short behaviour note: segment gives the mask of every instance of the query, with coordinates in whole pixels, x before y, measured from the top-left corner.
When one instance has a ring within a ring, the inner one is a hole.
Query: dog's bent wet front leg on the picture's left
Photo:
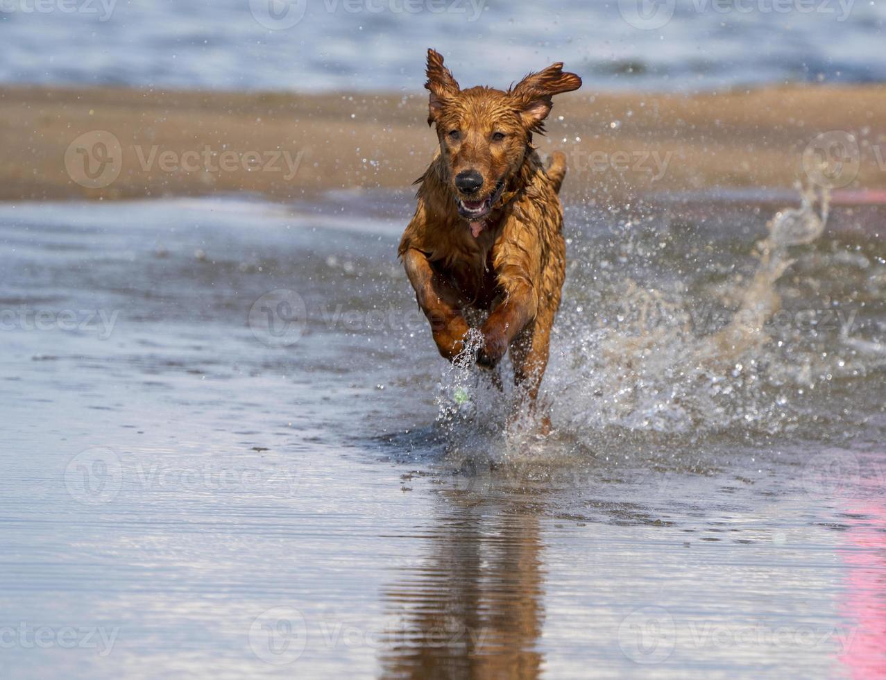
[[[416,301],[431,324],[440,356],[452,361],[462,349],[470,330],[459,309],[458,293],[439,277],[427,256],[415,248],[403,254],[409,283],[416,290]]]

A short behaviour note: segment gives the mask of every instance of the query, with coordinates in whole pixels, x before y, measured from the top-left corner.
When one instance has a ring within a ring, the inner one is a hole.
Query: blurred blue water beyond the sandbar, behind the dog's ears
[[[586,91],[882,82],[886,6],[853,0],[4,0],[0,82],[393,90],[563,61]]]

